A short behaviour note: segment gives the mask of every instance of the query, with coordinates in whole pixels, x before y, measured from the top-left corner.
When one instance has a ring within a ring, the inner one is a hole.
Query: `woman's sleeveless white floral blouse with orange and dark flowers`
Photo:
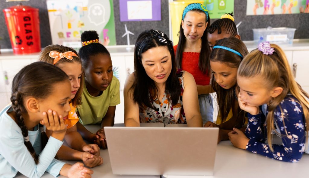
[[[167,124],[186,124],[186,117],[184,115],[184,108],[182,105],[182,94],[184,92],[184,72],[178,70],[177,76],[179,83],[181,85],[181,94],[177,103],[172,103],[171,98],[163,94],[162,101],[158,99],[154,100],[150,98],[150,103],[153,108],[147,106],[139,107],[139,121],[140,123],[149,123],[149,122],[162,122],[165,125]]]

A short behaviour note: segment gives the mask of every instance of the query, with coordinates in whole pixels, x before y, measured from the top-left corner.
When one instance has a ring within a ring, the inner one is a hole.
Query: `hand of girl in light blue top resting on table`
[[[93,171],[84,167],[83,163],[73,164],[68,171],[69,178],[91,178],[91,174]]]

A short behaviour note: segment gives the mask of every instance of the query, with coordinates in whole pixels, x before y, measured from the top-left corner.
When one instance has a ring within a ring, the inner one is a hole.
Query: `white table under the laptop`
[[[122,124],[123,125],[123,124]],[[115,126],[121,126],[115,125]],[[98,125],[86,126],[91,132],[99,129]],[[108,150],[101,150],[100,154],[104,163],[98,167],[91,168],[94,171],[93,178],[99,177],[141,177],[155,178],[160,176],[128,176],[113,175],[111,164],[108,156]],[[76,161],[65,161],[74,164]],[[18,178],[25,177],[18,174]],[[52,178],[48,173],[43,175],[44,178]],[[63,177],[63,176],[61,176]],[[162,178],[199,178],[201,176],[162,176]],[[246,150],[235,148],[230,141],[221,141],[218,144],[216,152],[216,160],[214,166],[214,176],[209,178],[226,178],[226,177],[272,177],[272,178],[290,178],[290,177],[309,177],[309,155],[304,154],[298,163],[286,163],[270,158],[266,158],[259,154],[253,154]]]

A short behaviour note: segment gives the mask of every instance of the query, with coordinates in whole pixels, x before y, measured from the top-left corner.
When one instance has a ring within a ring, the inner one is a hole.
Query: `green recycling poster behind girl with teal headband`
[[[210,19],[220,19],[221,15],[234,13],[234,0],[204,0]]]

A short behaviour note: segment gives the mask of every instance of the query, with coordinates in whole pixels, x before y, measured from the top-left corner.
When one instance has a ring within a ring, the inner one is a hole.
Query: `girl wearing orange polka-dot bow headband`
[[[82,61],[78,57],[77,52],[66,46],[49,45],[40,52],[39,61],[59,67],[69,76],[71,83],[71,111],[69,112],[68,119],[65,120],[67,131],[64,137],[68,146],[61,146],[57,153],[57,158],[63,160],[83,160],[87,167],[101,165],[103,158],[100,157],[99,146],[85,143],[77,131],[76,123],[79,119],[75,111],[77,111],[76,107],[81,105],[84,85]],[[46,130],[46,134],[50,136],[51,131]]]

